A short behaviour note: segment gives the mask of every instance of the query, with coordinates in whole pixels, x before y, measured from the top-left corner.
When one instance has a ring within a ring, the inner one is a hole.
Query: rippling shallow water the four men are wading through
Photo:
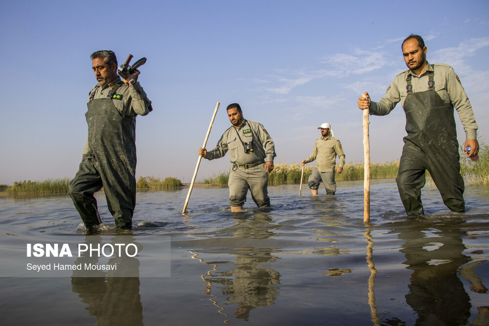
[[[271,208],[248,195],[241,213],[229,212],[227,188],[197,187],[182,216],[187,191],[137,193],[132,235],[171,236],[170,277],[0,278],[0,324],[488,323],[489,187],[467,186],[457,214],[428,185],[427,215],[407,219],[394,180],[373,180],[370,223],[358,181],[336,196],[270,186]],[[96,197],[100,234],[120,235]],[[80,235],[79,223],[68,196],[0,197],[3,247]]]

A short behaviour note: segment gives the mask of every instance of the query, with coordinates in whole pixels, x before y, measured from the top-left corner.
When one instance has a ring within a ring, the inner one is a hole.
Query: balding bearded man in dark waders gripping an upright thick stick
[[[460,79],[449,65],[430,65],[426,51],[421,36],[408,36],[402,43],[402,53],[409,69],[394,78],[380,102],[371,102],[367,92],[358,99],[359,109],[369,109],[375,115],[388,114],[398,102],[404,108],[407,136],[396,181],[409,216],[424,214],[421,189],[425,170],[445,205],[455,212],[465,211],[454,107],[466,131],[464,151],[468,157],[479,152],[478,127]]]

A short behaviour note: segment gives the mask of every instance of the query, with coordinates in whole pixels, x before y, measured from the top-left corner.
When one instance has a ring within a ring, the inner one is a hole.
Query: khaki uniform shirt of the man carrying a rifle
[[[146,115],[150,111],[148,106],[144,103],[143,99],[148,100],[146,92],[143,87],[139,85],[139,82],[133,85],[126,85],[122,82],[120,78],[112,81],[113,84],[121,84],[114,95],[121,95],[119,98],[116,96],[112,98],[112,103],[120,112],[127,112],[129,115]],[[107,98],[109,91],[112,89],[109,85],[105,87],[100,87],[100,85],[95,85],[90,92],[89,98],[93,95],[93,99]],[[85,147],[83,148],[83,154],[85,155],[89,151],[88,140],[85,142]]]

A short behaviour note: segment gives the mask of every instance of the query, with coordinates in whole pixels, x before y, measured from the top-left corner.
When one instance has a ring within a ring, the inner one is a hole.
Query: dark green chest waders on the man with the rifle
[[[107,98],[91,97],[85,114],[89,152],[70,182],[69,195],[87,228],[101,223],[93,194],[102,187],[116,227],[132,227],[136,204],[136,120],[113,105],[111,97],[119,86],[115,85]]]

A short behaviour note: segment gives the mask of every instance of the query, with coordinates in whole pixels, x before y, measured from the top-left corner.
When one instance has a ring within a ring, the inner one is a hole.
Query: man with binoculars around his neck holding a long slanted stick
[[[273,170],[273,158],[277,156],[273,140],[260,123],[243,118],[238,103],[228,105],[227,116],[232,126],[224,131],[215,149],[207,152],[200,148],[199,155],[212,160],[229,151],[233,163],[228,181],[231,212],[243,209],[248,189],[258,207],[270,206],[268,173]]]

